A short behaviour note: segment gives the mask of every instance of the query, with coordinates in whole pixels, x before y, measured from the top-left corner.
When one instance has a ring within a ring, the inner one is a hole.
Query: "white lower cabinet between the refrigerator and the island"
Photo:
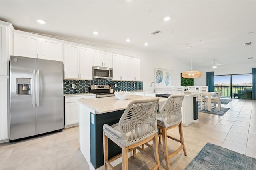
[[[95,95],[65,96],[65,128],[77,126],[79,122],[79,104],[76,100],[95,98]]]

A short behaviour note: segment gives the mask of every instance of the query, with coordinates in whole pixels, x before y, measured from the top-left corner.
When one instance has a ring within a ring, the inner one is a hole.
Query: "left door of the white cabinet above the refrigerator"
[[[14,56],[42,58],[42,38],[14,33]]]

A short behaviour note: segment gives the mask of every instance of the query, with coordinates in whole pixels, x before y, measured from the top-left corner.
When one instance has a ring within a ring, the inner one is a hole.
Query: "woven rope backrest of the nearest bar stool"
[[[133,100],[128,104],[118,126],[128,147],[138,143],[157,132],[156,112],[159,98]]]

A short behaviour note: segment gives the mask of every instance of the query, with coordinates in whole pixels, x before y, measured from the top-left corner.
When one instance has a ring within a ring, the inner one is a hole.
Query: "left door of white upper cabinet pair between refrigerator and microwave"
[[[79,46],[64,44],[64,78],[79,78]]]

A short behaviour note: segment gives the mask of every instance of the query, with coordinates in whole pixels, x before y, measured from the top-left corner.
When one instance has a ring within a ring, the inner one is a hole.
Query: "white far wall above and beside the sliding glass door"
[[[206,72],[214,72],[214,76],[226,74],[248,74],[252,73],[252,68],[256,68],[255,62],[249,64],[221,65],[217,68],[199,70],[202,72],[202,77],[194,79],[194,85],[206,86]]]

